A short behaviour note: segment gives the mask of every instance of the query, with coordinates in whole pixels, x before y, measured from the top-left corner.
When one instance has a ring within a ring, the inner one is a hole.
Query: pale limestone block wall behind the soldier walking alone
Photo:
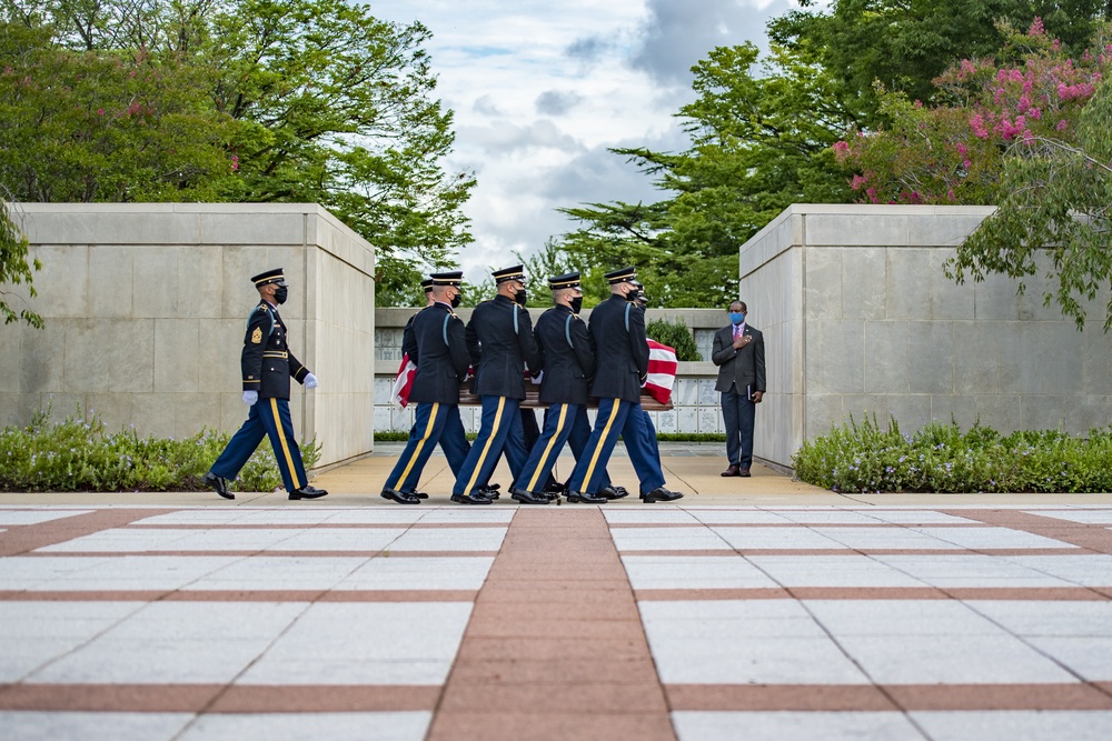
[[[321,463],[373,449],[375,256],[316,204],[22,204],[42,262],[44,330],[0,330],[3,424],[80,405],[109,429],[185,437],[247,417],[239,356],[258,302],[249,278],[285,268],[292,350],[320,380],[294,383],[298,439]]]

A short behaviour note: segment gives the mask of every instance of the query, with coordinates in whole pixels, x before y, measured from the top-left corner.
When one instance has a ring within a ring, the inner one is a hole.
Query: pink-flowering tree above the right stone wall
[[[871,203],[994,203],[1005,154],[1045,140],[1073,142],[1081,110],[1112,66],[1112,43],[1098,39],[1069,58],[1035,22],[1006,23],[1003,59],[965,59],[934,80],[935,104],[877,90],[890,126],[852,130],[834,144],[858,171],[850,182]]]

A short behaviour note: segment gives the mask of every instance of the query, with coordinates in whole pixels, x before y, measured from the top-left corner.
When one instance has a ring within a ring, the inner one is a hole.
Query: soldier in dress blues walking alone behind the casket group
[[[328,492],[309,485],[289,415],[289,379],[292,377],[306,389],[315,389],[317,377],[294,357],[286,324],[278,316],[278,306],[286,302],[289,292],[281,268],[259,273],[251,281],[261,300],[247,318],[240,358],[244,402],[251,409],[244,427],[205,474],[205,483],[225,499],[235,499],[228,481],[239,474],[262,437],[269,435],[289,498],[317,499]]]

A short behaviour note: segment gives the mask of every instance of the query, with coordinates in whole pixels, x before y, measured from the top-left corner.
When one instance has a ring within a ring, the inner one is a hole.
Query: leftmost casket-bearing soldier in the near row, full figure
[[[409,441],[386,478],[383,498],[400,504],[418,504],[417,482],[433,449],[467,447],[459,420],[459,383],[467,375],[467,338],[464,321],[453,312],[459,306],[463,273],[441,272],[433,279],[433,306],[414,318],[417,374],[409,400],[417,404],[417,417]]]

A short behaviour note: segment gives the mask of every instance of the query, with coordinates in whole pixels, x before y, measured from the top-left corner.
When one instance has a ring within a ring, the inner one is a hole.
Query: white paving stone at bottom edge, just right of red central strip
[[[897,712],[673,712],[679,741],[927,741]]]

